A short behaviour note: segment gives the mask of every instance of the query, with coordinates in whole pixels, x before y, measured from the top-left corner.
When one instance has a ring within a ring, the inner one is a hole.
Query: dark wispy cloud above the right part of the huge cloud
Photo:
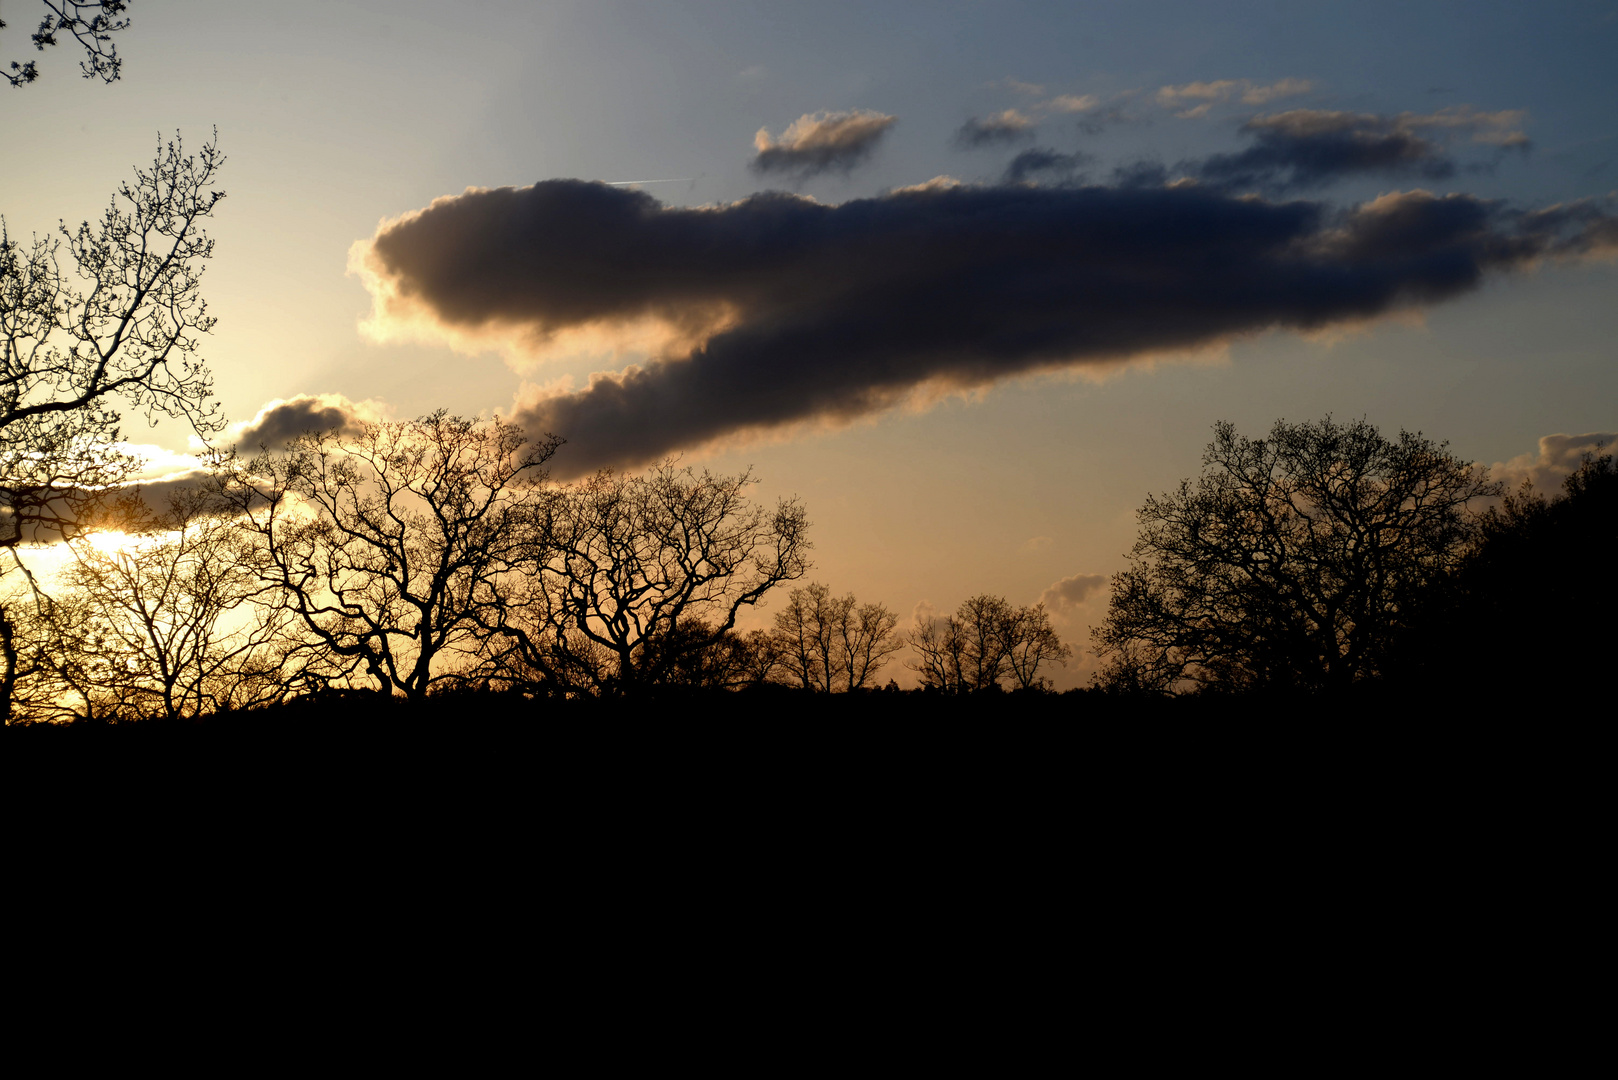
[[[1294,108],[1244,123],[1241,131],[1252,136],[1251,147],[1184,162],[1180,168],[1204,183],[1272,194],[1319,188],[1359,173],[1442,180],[1455,175],[1443,142],[1448,134],[1466,133],[1474,142],[1521,147],[1527,144],[1514,128],[1521,118],[1521,112],[1469,108],[1398,117]]]

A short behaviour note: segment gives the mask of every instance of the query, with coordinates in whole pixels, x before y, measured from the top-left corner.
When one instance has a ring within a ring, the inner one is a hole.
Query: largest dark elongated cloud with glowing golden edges
[[[377,314],[445,340],[667,327],[644,364],[532,395],[558,474],[841,424],[1074,364],[1319,332],[1547,257],[1618,253],[1603,204],[1393,193],[1351,209],[1205,185],[948,186],[671,207],[579,180],[468,191],[385,222],[354,262]]]

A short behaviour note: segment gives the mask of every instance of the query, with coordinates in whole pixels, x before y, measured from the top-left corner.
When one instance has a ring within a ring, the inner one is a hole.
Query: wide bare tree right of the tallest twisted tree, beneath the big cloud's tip
[[[803,505],[756,505],[754,483],[663,463],[558,491],[534,531],[542,570],[511,596],[498,640],[563,691],[668,683],[733,633],[743,607],[809,567]]]

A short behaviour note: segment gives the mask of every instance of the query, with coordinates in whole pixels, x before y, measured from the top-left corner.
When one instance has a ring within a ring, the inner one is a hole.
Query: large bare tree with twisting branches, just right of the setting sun
[[[503,578],[532,572],[558,444],[438,411],[231,460],[220,491],[257,538],[273,602],[307,640],[309,674],[362,672],[383,693],[419,698],[466,677],[500,625]]]

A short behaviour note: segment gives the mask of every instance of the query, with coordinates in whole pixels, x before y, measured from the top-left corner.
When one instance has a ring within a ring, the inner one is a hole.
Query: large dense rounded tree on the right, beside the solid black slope
[[[1139,512],[1097,628],[1102,682],[1340,690],[1382,669],[1424,589],[1477,534],[1487,470],[1366,421],[1215,426],[1196,483]]]

